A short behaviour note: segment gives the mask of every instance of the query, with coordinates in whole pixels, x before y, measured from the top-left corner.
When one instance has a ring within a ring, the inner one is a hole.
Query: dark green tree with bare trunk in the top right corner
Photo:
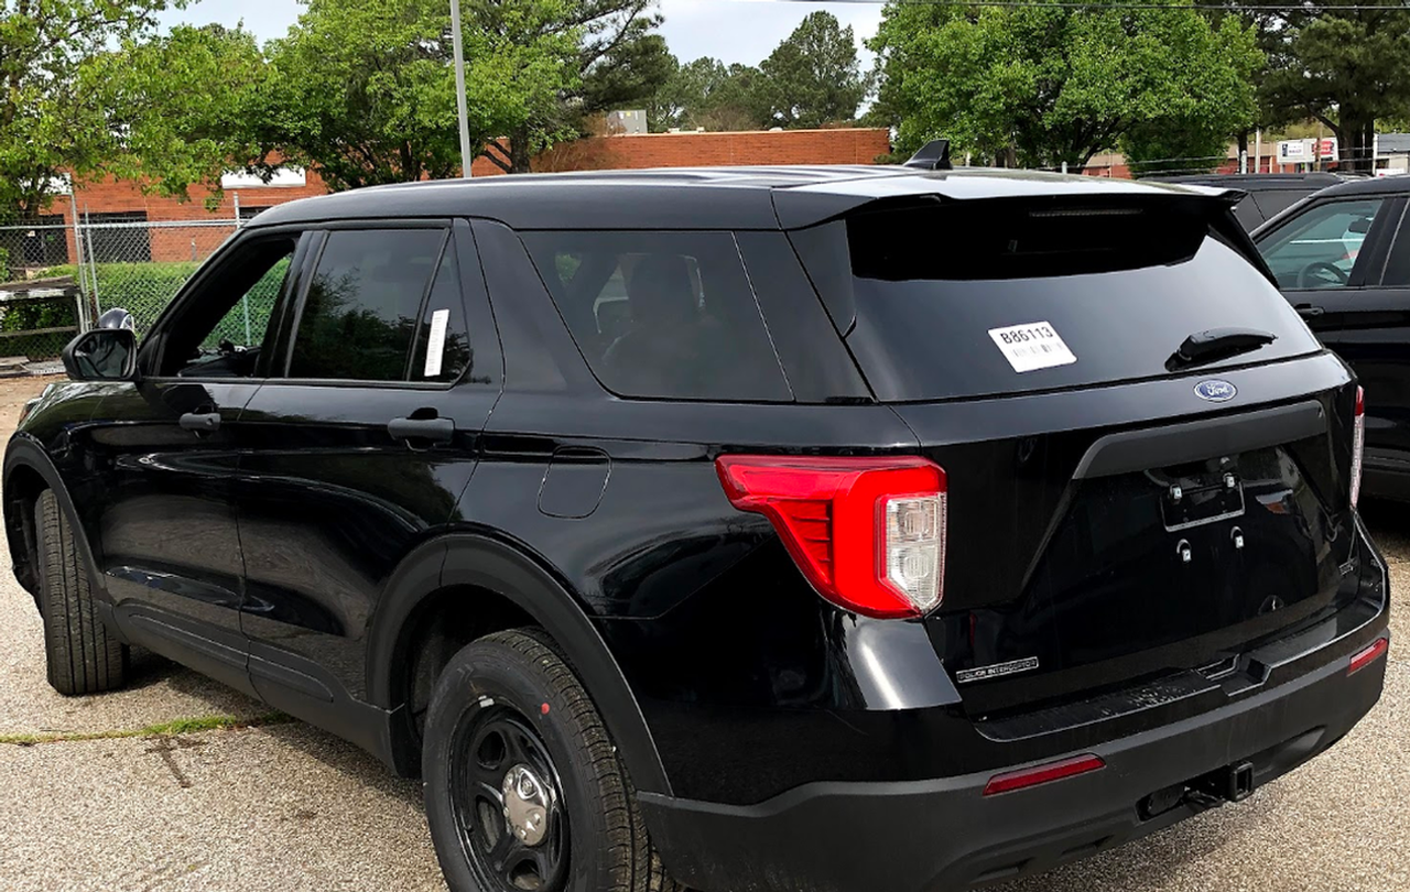
[[[1410,7],[1380,3],[1297,7],[1279,11],[1263,28],[1263,123],[1320,120],[1337,135],[1344,169],[1371,169],[1378,118],[1410,116]]]

